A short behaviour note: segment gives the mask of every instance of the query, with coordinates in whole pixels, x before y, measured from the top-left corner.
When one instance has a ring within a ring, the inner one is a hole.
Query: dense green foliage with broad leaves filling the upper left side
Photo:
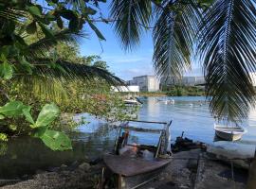
[[[90,23],[96,35],[104,40],[92,21],[99,2],[80,1],[81,8],[77,1],[46,1],[49,9],[36,1],[4,1],[0,4],[0,104],[4,105],[0,107],[2,140],[9,135],[31,134],[53,150],[70,149],[68,137],[52,129],[60,114],[56,105],[47,104],[54,98],[52,94],[56,96],[56,91],[64,89],[63,85],[70,80],[84,81],[92,77],[112,84],[120,82],[118,77],[103,69],[107,67],[103,61],[93,66],[91,62],[87,63],[86,58],[78,56],[74,44],[78,38],[84,37],[81,30],[85,22]],[[63,51],[58,51],[60,49]],[[41,90],[38,83],[44,83],[46,87],[44,97],[44,94],[37,95],[33,90],[27,90],[30,86]],[[57,101],[62,100],[66,98]],[[34,121],[36,115],[38,117]]]

